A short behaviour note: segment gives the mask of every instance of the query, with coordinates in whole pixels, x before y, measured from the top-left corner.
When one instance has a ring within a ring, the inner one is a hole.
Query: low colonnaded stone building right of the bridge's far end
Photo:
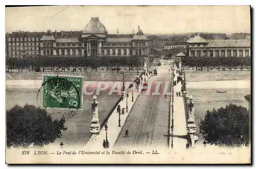
[[[188,57],[250,57],[249,39],[205,40],[199,35],[186,41]]]

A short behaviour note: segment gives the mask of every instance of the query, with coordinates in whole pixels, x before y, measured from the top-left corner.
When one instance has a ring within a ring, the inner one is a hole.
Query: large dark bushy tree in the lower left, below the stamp
[[[7,147],[44,146],[61,137],[65,118],[53,118],[46,109],[26,104],[15,105],[6,112]]]

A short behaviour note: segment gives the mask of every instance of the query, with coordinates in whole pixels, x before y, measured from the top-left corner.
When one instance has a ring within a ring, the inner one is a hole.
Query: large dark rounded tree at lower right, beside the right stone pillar
[[[210,145],[248,146],[249,112],[243,106],[226,105],[218,110],[207,110],[199,123],[200,133]]]

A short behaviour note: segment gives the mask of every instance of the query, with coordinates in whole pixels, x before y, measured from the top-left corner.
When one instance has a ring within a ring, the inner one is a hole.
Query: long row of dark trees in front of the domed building
[[[91,67],[97,71],[98,67],[106,67],[106,71],[111,67],[119,68],[119,66],[129,66],[129,70],[140,65],[139,59],[136,57],[37,57],[37,58],[7,58],[7,69],[31,69],[32,71],[40,71],[40,68],[65,68],[77,67],[87,68]]]

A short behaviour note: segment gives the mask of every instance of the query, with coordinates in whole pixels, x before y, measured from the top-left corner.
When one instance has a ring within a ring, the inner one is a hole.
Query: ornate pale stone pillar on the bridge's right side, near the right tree
[[[196,146],[196,142],[198,137],[196,136],[196,124],[195,124],[195,102],[193,101],[193,97],[189,96],[188,104],[188,120],[187,120],[187,134],[189,136],[190,147],[194,148]]]

